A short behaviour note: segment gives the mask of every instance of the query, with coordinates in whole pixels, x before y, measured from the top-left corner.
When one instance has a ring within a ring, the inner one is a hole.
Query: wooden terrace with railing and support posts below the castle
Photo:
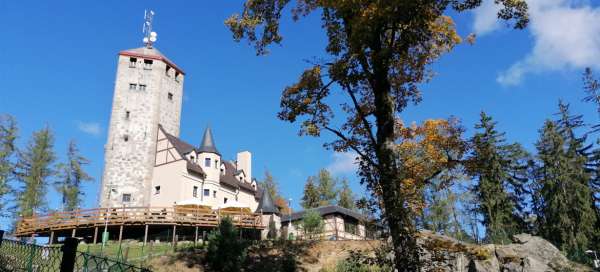
[[[56,234],[70,234],[77,237],[78,232],[91,233],[93,243],[104,229],[119,229],[119,241],[123,237],[123,229],[130,227],[144,229],[144,243],[148,237],[148,228],[173,229],[173,241],[177,227],[195,228],[196,240],[198,229],[210,229],[218,226],[221,218],[229,217],[233,224],[241,229],[264,229],[262,215],[244,209],[210,210],[187,207],[111,207],[56,212],[48,215],[34,215],[19,220],[15,236],[49,237],[50,243]],[[70,232],[70,233],[69,233]],[[81,234],[81,233],[80,233]]]

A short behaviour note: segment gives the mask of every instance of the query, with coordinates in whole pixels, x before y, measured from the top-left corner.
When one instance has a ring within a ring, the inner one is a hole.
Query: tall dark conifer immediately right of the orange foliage
[[[496,122],[481,113],[479,131],[471,139],[473,149],[467,172],[477,180],[473,194],[477,211],[483,215],[486,238],[492,243],[507,243],[522,230],[524,182],[517,176],[525,173],[522,166],[525,151],[519,144],[506,144],[504,133],[496,130]]]

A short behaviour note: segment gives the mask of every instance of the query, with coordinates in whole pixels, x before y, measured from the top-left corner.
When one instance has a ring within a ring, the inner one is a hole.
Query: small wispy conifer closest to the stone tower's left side
[[[75,141],[69,142],[67,150],[67,162],[58,165],[59,181],[56,182],[57,191],[62,195],[63,210],[73,211],[81,204],[81,183],[92,181],[83,167],[89,164],[89,160],[79,154]]]

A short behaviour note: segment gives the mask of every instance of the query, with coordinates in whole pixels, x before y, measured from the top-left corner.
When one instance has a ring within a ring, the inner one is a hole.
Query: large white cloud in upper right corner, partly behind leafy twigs
[[[480,35],[499,26],[494,14],[498,7],[491,0],[486,2],[474,11],[473,29]],[[531,19],[527,31],[533,48],[498,75],[500,84],[517,85],[532,73],[600,68],[599,7],[582,0],[527,0],[527,4]]]

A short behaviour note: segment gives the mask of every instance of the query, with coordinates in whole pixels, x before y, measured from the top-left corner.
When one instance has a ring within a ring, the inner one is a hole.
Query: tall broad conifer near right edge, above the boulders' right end
[[[541,130],[538,166],[535,170],[535,213],[540,234],[575,260],[594,235],[596,216],[592,207],[586,169],[585,137],[575,130],[583,126],[581,116],[572,116],[569,106],[559,104],[559,120],[546,121]]]

